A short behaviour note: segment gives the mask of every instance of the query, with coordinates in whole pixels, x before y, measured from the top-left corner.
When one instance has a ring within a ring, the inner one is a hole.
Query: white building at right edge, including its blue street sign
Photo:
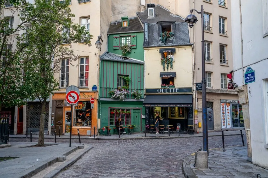
[[[267,0],[232,1],[234,82],[238,85],[236,91],[239,93],[243,108],[248,160],[266,169],[268,168],[267,14]]]

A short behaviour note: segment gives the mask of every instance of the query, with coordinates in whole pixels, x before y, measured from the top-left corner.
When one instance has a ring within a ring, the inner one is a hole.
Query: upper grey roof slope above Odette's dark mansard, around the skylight
[[[157,5],[155,6],[155,18],[147,18],[147,9],[144,12],[137,13],[142,23],[157,23],[166,21],[184,22],[184,19],[179,15],[173,15],[169,10]]]

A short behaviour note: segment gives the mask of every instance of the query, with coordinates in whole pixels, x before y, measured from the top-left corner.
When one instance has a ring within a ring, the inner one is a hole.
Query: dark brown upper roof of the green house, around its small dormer
[[[129,18],[128,20],[128,27],[122,27],[122,20],[118,21],[117,25],[115,25],[115,22],[111,23],[107,34],[143,31],[143,27],[137,17]]]

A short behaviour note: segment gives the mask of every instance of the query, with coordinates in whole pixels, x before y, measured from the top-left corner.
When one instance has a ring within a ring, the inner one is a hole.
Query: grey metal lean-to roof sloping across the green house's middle
[[[114,53],[104,53],[101,55],[101,60],[107,60],[107,61],[118,61],[118,62],[129,62],[129,63],[137,63],[137,64],[144,64],[144,61],[140,61],[137,59],[133,59],[130,57],[121,56]]]

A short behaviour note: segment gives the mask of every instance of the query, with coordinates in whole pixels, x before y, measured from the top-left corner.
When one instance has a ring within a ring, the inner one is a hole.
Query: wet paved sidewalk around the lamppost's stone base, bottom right
[[[247,160],[247,147],[229,147],[209,152],[209,168],[193,167],[195,155],[188,156],[183,163],[185,177],[198,178],[251,178],[260,174],[268,177],[268,170]],[[191,160],[191,161],[190,161]],[[189,163],[191,164],[189,166]],[[260,176],[259,176],[260,177]]]

